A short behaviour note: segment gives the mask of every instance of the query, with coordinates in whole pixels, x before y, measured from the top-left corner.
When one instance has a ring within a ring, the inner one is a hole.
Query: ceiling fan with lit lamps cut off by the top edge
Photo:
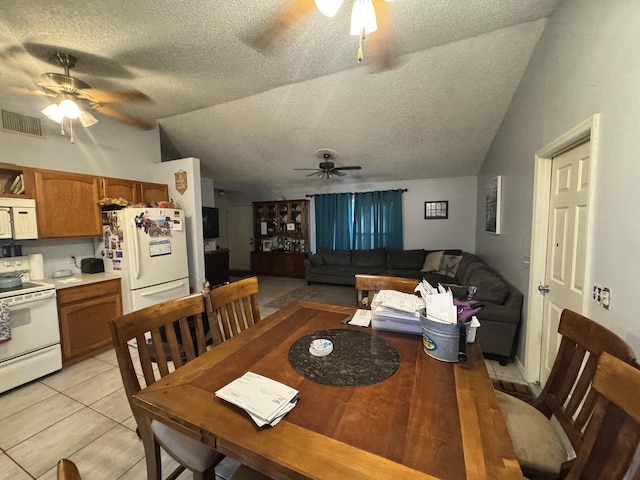
[[[333,17],[344,0],[289,0],[266,23],[257,27],[248,36],[247,43],[254,49],[266,53],[286,32],[293,30],[310,13],[319,10]],[[351,0],[350,34],[358,36],[357,61],[364,58],[363,40],[369,39],[373,65],[376,71],[389,70],[396,66],[396,43],[393,37],[392,15],[388,2],[393,0]],[[348,2],[347,2],[348,3]],[[375,32],[369,37],[369,34]]]

